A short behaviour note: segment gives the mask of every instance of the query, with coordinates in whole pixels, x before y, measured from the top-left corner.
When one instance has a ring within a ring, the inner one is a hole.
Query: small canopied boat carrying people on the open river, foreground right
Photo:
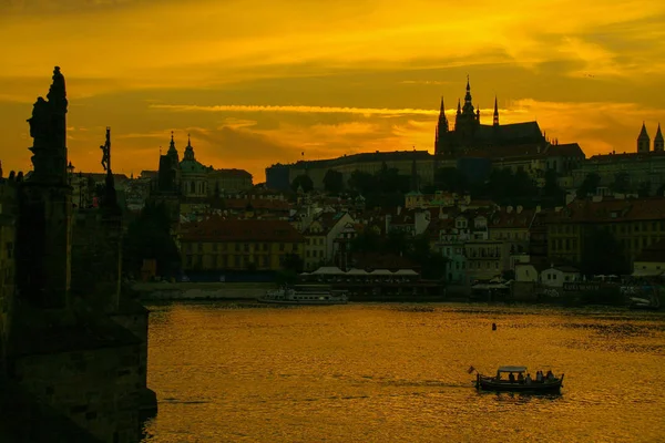
[[[555,377],[552,371],[545,374],[543,371],[536,371],[532,378],[531,373],[526,372],[526,367],[499,367],[494,377],[475,371],[475,388],[479,391],[557,393],[563,388],[563,377],[564,374]]]

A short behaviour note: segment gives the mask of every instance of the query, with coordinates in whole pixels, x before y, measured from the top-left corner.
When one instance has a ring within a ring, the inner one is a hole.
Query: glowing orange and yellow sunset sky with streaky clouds
[[[25,120],[54,65],[69,153],[100,172],[183,152],[255,183],[277,162],[433,152],[440,96],[467,74],[481,121],[538,120],[587,156],[632,152],[665,125],[665,1],[0,0],[0,159],[31,167]]]

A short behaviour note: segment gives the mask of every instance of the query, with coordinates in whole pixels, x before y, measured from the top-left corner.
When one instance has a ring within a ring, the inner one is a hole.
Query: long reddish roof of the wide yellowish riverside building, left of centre
[[[286,220],[229,220],[222,217],[184,224],[181,239],[183,241],[305,241],[305,237]]]

